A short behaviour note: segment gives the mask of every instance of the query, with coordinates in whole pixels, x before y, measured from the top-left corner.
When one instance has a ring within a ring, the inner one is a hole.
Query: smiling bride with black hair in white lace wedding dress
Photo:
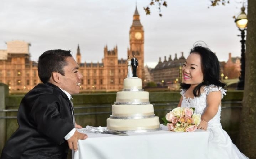
[[[210,132],[208,159],[248,159],[232,143],[220,123],[221,99],[226,86],[219,80],[216,55],[206,47],[195,46],[182,67],[183,83],[178,107],[194,107],[201,114],[198,129]]]

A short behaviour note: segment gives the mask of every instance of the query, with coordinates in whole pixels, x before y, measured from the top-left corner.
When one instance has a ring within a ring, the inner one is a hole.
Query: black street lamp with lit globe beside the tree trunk
[[[236,26],[238,29],[241,31],[241,36],[242,40],[240,41],[242,44],[242,49],[241,49],[241,75],[239,77],[239,82],[237,83],[237,90],[244,90],[244,85],[245,85],[245,29],[246,25],[248,22],[247,15],[245,14],[245,7],[243,6],[241,8],[241,13],[240,15],[237,16],[235,19]]]

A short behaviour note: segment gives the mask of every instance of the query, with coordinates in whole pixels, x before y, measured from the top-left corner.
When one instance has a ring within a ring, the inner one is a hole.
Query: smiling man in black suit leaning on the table
[[[43,83],[29,91],[17,114],[19,128],[5,144],[1,159],[66,159],[68,148],[77,151],[77,141],[87,135],[75,128],[71,94],[79,93],[78,64],[65,50],[49,50],[38,60]]]

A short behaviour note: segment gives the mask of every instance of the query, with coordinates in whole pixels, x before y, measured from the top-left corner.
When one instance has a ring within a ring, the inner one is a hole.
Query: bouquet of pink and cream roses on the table
[[[174,108],[162,118],[170,131],[193,132],[201,122],[201,115],[194,113],[195,108]]]

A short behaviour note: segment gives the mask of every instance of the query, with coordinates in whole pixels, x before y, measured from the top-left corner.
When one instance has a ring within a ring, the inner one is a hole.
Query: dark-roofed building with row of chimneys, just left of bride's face
[[[153,70],[154,82],[161,86],[170,86],[174,83],[180,83],[182,81],[182,65],[186,61],[181,52],[181,57],[175,58],[172,60],[171,55],[169,56],[168,61],[166,56],[164,56],[164,61],[161,61],[159,57],[159,62]]]

